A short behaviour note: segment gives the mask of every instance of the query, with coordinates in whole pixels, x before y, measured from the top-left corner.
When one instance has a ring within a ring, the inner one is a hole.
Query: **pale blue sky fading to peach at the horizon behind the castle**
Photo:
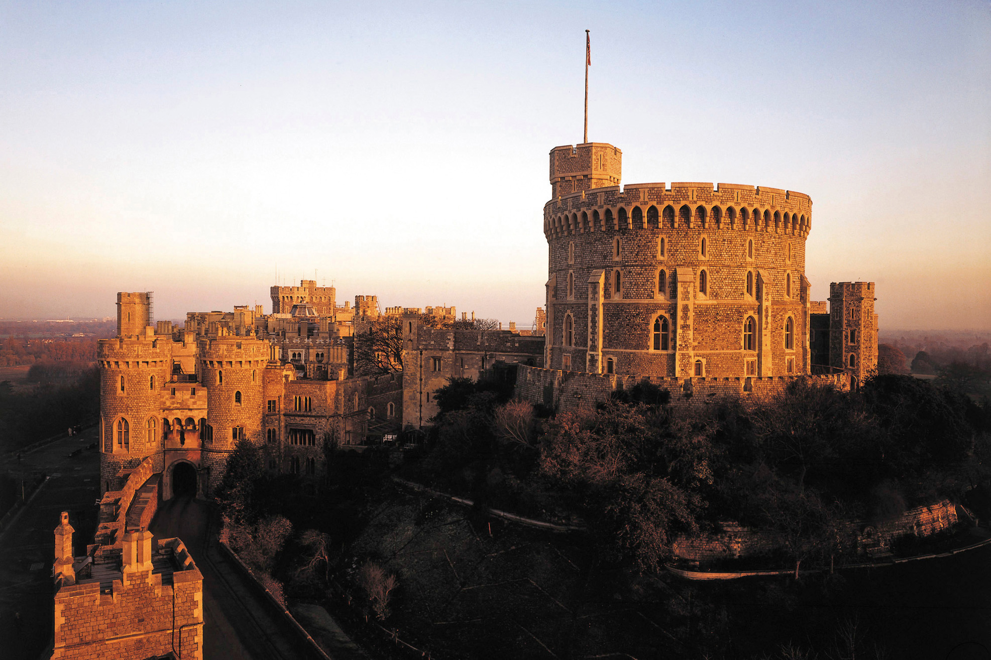
[[[543,302],[547,153],[814,200],[807,275],[991,327],[991,3],[0,2],[0,317]]]

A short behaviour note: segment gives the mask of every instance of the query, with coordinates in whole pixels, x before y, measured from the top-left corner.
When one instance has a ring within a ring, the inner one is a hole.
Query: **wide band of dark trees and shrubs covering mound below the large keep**
[[[991,406],[912,377],[855,391],[798,380],[706,413],[675,410],[669,392],[641,384],[596,411],[543,420],[531,452],[500,439],[504,400],[464,379],[437,392],[423,461],[435,483],[468,480],[486,501],[503,478],[525,481],[589,523],[601,559],[644,571],[720,520],[776,532],[798,570],[849,547],[843,519],[991,485]]]

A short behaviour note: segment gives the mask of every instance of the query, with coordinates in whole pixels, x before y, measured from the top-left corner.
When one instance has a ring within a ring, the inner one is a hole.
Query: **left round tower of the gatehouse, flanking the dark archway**
[[[149,332],[134,338],[101,339],[100,493],[119,488],[121,470],[154,456],[163,468],[162,392],[171,373],[171,339]]]

